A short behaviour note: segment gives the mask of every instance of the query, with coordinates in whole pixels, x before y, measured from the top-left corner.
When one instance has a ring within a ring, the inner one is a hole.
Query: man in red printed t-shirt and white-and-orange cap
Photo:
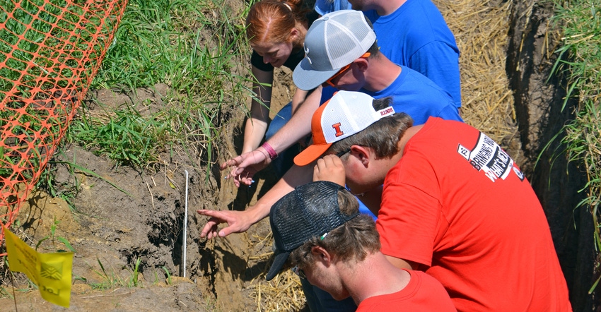
[[[314,180],[382,191],[382,252],[436,277],[458,311],[571,311],[542,206],[509,155],[467,124],[412,126],[390,108],[338,92],[313,115],[313,145],[295,163],[327,155]]]

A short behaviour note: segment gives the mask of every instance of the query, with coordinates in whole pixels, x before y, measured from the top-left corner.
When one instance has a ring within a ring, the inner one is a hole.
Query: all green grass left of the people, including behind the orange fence
[[[49,2],[60,4],[62,0]],[[164,155],[182,152],[194,160],[197,169],[206,167],[208,178],[208,164],[215,161],[216,140],[221,134],[224,115],[229,114],[230,109],[245,107],[240,103],[245,102],[243,96],[248,92],[243,77],[248,68],[240,71],[236,67],[243,63],[242,59],[246,59],[246,52],[249,51],[243,39],[243,19],[240,17],[246,13],[233,13],[225,2],[130,0],[115,40],[91,83],[91,90],[110,89],[133,93],[132,96],[135,97],[138,88],[153,88],[157,83],[163,83],[168,85],[169,90],[161,99],[164,105],[152,114],[142,114],[141,110],[148,103],[141,103],[107,108],[100,115],[84,106],[83,112],[78,113],[71,122],[64,142],[83,145],[98,155],[114,160],[117,165],[139,169],[158,163],[160,155],[165,157]],[[0,0],[0,6],[4,10],[16,11],[13,14],[16,19],[9,20],[6,28],[0,30],[1,52],[12,53],[11,44],[17,42],[18,36],[23,33],[29,40],[27,46],[19,45],[22,51],[15,52],[18,54],[17,60],[11,60],[8,66],[0,68],[0,91],[11,90],[15,85],[13,81],[19,80],[18,71],[25,70],[27,62],[35,61],[32,55],[38,52],[37,44],[45,42],[52,45],[44,33],[52,28],[56,17],[44,13],[40,21],[32,23],[33,16],[29,13],[37,11],[37,6],[43,3],[42,0],[23,0],[20,4],[22,9],[18,9],[11,1]],[[49,11],[61,12],[54,6]],[[0,22],[6,20],[8,16],[0,11]],[[69,21],[74,20],[67,20]],[[32,30],[28,30],[25,25],[29,25]],[[6,56],[0,54],[0,62],[5,59]],[[42,66],[46,65],[48,64],[40,63],[39,66],[33,66],[28,75],[39,76],[44,73]],[[71,77],[73,74],[71,71],[66,76]],[[25,82],[33,81],[30,76],[22,78]],[[61,83],[64,81],[57,82],[57,85]],[[27,97],[35,86],[23,83],[18,88],[21,95]],[[47,86],[43,85],[42,89],[45,87]],[[0,93],[0,100],[5,96]],[[40,130],[35,128],[39,124],[39,120],[33,117],[36,112],[29,112],[30,115],[16,114],[18,109],[23,108],[23,103],[14,101],[6,108],[8,109],[0,111],[0,126],[5,126],[8,120],[16,116],[19,123],[31,124],[32,129],[17,128],[14,135],[24,135],[27,138],[33,136],[31,130]],[[60,122],[52,121],[52,124]],[[59,132],[58,129],[51,130]],[[0,150],[0,157],[11,165],[23,166],[20,155]],[[33,162],[32,167],[40,167],[42,163],[35,159]],[[74,164],[69,167],[72,174],[75,169],[86,171],[82,167],[75,168]],[[89,174],[89,170],[87,173]],[[12,174],[11,168],[0,169],[0,177],[6,178]],[[35,178],[31,172],[23,172],[23,175],[28,179]],[[40,185],[45,185],[52,196],[67,199],[76,196],[78,188],[77,185],[69,189],[54,186],[52,172],[42,175]],[[54,234],[47,238],[48,241],[50,239],[57,239],[57,243],[60,241]],[[136,270],[134,268],[134,272]],[[167,274],[170,277],[168,272]],[[132,282],[137,284],[136,278]]]

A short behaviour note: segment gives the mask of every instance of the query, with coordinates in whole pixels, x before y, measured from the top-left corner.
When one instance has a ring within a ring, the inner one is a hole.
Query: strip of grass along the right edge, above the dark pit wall
[[[586,194],[578,207],[590,209],[594,223],[597,258],[601,253],[601,7],[593,1],[554,1],[554,19],[561,23],[563,43],[562,56],[554,66],[554,72],[568,76],[568,95],[578,98],[575,118],[566,126],[568,160],[579,164],[586,172],[587,184],[580,192]],[[564,109],[566,105],[564,104]],[[599,276],[591,285],[593,293],[601,280],[601,263],[597,258],[595,274]]]

